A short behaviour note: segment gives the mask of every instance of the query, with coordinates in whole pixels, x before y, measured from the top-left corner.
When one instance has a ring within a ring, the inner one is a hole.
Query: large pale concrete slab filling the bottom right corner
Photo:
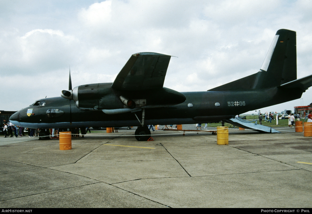
[[[311,207],[305,170],[141,179],[114,184],[169,207]]]

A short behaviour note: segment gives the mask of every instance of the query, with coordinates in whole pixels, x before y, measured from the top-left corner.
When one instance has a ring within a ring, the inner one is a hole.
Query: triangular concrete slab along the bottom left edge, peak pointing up
[[[165,205],[105,183],[94,183],[1,201],[5,208],[166,208]]]

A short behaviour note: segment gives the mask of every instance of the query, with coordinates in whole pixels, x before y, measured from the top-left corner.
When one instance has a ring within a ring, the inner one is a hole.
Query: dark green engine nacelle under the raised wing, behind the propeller
[[[79,109],[89,110],[157,108],[176,105],[186,100],[185,95],[168,88],[151,93],[150,90],[115,90],[111,85],[112,83],[80,85],[73,90],[63,90],[62,97],[74,100]]]

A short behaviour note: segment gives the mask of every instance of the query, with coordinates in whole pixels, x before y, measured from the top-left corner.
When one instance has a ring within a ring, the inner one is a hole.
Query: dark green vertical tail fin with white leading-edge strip
[[[297,79],[296,32],[280,29],[258,73],[210,89],[252,90],[280,86]]]

